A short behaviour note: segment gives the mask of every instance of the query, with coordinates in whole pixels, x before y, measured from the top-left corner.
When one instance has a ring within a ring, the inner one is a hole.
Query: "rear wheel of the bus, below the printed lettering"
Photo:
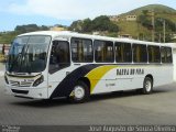
[[[142,94],[148,95],[153,91],[153,81],[150,77],[145,77],[143,82]]]

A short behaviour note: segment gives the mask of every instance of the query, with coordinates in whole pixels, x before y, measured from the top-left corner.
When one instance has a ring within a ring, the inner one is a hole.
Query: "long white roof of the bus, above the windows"
[[[160,45],[160,46],[163,45],[164,46],[164,44],[155,43],[155,42],[139,41],[139,40],[133,40],[133,38],[90,35],[90,34],[82,34],[82,33],[77,33],[77,32],[72,32],[72,31],[37,31],[37,32],[20,34],[19,36],[23,36],[23,35],[51,35],[53,40],[56,37],[61,37],[61,36],[67,37],[67,38],[82,37],[82,38],[90,38],[90,40],[105,40],[105,41],[113,41],[113,42],[127,42],[127,43],[151,44],[151,45]]]

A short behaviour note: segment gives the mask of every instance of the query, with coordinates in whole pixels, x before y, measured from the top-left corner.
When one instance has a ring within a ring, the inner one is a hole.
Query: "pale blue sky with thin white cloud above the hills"
[[[0,32],[16,25],[70,25],[98,15],[117,15],[147,4],[176,9],[176,0],[1,0]]]

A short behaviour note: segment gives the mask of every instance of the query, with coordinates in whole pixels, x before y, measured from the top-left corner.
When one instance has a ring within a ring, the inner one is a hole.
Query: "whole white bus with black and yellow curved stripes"
[[[67,97],[153,87],[173,81],[172,47],[129,38],[42,31],[12,42],[6,67],[6,92],[15,97]]]

